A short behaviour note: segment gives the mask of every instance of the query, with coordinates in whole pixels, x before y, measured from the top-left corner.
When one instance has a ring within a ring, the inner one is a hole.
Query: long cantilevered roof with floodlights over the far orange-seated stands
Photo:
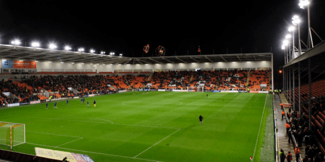
[[[0,45],[0,58],[6,60],[51,61],[64,63],[92,64],[167,64],[167,63],[205,63],[205,62],[243,62],[271,61],[272,53],[224,54],[224,55],[186,55],[166,57],[120,57],[83,52],[49,50],[41,48]]]

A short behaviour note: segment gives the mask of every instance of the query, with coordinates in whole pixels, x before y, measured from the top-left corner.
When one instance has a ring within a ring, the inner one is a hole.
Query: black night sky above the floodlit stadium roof
[[[216,4],[219,3],[219,4]],[[213,2],[127,2],[127,1],[0,1],[0,44],[19,38],[24,45],[50,42],[62,50],[70,45],[96,51],[142,56],[157,46],[166,56],[271,52],[275,68],[284,62],[280,49],[291,17],[302,17],[301,39],[307,42],[307,10],[299,0],[213,1]],[[325,39],[322,15],[325,4],[313,0],[311,27]],[[296,33],[296,36],[298,34]],[[315,44],[320,41],[314,37]],[[304,48],[304,47],[303,47]]]

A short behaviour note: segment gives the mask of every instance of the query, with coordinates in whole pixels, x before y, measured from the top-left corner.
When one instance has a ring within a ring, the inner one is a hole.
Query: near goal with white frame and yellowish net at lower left
[[[17,146],[26,142],[25,125],[0,121],[0,144]]]

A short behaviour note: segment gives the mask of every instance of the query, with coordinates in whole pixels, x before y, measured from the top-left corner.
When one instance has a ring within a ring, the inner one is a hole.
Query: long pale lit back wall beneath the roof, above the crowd
[[[49,62],[38,62],[37,63],[37,71],[47,71],[47,72],[55,72],[55,71],[92,71],[97,72],[113,72],[114,70],[125,70],[125,71],[153,71],[153,70],[191,70],[191,69],[207,69],[207,70],[217,70],[217,69],[245,69],[245,68],[271,68],[271,61],[258,61],[258,62],[221,62],[221,63],[182,63],[182,64],[150,64],[150,65],[96,65],[96,64],[72,64],[72,63],[49,63]]]

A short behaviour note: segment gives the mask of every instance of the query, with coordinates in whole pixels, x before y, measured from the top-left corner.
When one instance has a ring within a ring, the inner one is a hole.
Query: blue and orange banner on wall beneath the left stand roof
[[[36,69],[35,61],[2,60],[2,68]]]

